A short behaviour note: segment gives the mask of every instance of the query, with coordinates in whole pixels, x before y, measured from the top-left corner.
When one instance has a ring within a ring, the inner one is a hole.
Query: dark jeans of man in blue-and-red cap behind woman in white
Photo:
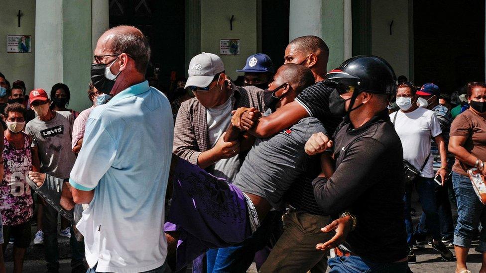
[[[441,235],[444,238],[451,238],[454,236],[454,224],[452,221],[452,210],[451,210],[451,203],[449,201],[449,194],[448,188],[449,184],[452,183],[451,181],[447,181],[444,186],[437,186],[436,187],[436,197],[437,197],[437,205],[439,213],[439,224]],[[454,198],[455,199],[455,198]],[[428,230],[425,225],[426,215],[422,212],[422,216],[420,217],[420,222],[415,227],[415,235],[427,236]]]

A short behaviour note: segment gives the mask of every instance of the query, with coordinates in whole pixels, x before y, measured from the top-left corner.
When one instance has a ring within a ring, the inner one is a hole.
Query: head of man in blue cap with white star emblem
[[[271,82],[273,73],[273,63],[268,55],[263,53],[256,53],[246,59],[246,64],[241,70],[236,72],[244,72],[245,86],[254,86],[259,89],[266,89],[268,83]]]

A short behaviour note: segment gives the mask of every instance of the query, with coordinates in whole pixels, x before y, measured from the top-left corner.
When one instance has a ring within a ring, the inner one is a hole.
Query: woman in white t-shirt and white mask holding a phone
[[[446,154],[445,142],[442,131],[434,111],[427,110],[417,105],[416,88],[411,83],[398,85],[396,104],[400,110],[390,114],[395,130],[400,137],[403,147],[403,159],[417,169],[420,174],[405,187],[405,226],[407,228],[407,242],[410,246],[409,263],[416,258],[412,251],[414,234],[412,218],[410,215],[412,185],[415,186],[420,196],[420,204],[427,217],[427,228],[432,234],[432,247],[437,250],[446,261],[451,261],[454,256],[441,241],[438,207],[435,190],[438,186],[434,182],[437,175],[445,181],[447,160],[444,156],[437,173],[433,169],[433,157],[430,155],[431,138],[437,143],[441,155]],[[442,157],[441,157],[442,159]]]

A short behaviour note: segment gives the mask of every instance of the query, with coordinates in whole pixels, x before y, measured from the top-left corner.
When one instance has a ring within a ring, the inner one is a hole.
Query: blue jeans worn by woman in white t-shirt
[[[439,214],[437,212],[437,198],[435,193],[435,189],[439,185],[437,185],[432,178],[417,177],[411,183],[405,184],[405,195],[403,197],[403,200],[405,201],[405,227],[407,229],[408,245],[412,246],[413,244],[413,223],[412,215],[410,214],[412,184],[415,185],[415,189],[419,195],[422,210],[425,215],[427,215],[425,224],[430,230],[432,238],[434,238],[434,240],[441,240]]]

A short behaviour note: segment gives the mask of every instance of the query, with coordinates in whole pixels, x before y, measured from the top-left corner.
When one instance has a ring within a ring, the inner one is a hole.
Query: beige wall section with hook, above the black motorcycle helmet
[[[405,75],[410,79],[408,21],[408,0],[371,1],[371,54],[387,60],[397,77]]]

